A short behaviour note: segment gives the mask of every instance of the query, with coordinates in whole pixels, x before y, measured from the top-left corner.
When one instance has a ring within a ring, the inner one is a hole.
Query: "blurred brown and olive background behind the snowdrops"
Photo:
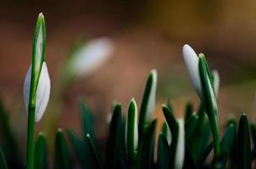
[[[253,0],[2,0],[0,96],[11,114],[15,132],[22,138],[26,130],[23,81],[31,63],[33,29],[40,12],[47,23],[46,57],[53,86],[58,69],[81,35],[89,40],[108,36],[115,45],[113,56],[103,67],[66,90],[58,127],[80,128],[77,97],[83,95],[94,112],[98,135],[104,135],[105,115],[113,101],[120,101],[124,110],[131,97],[140,105],[152,68],[157,68],[159,75],[157,112],[168,99],[174,103],[177,116],[183,114],[187,101],[197,106],[198,96],[181,55],[185,43],[196,52],[203,52],[210,68],[219,70],[220,121],[231,113],[238,116],[247,112],[252,120],[255,117],[256,2]],[[42,121],[53,113],[47,109]],[[37,130],[44,129],[42,123]]]

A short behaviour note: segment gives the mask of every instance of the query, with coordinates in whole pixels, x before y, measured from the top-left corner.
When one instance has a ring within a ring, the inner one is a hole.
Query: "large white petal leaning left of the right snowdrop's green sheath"
[[[200,81],[199,74],[199,58],[196,52],[193,51],[192,47],[189,45],[183,46],[183,58],[186,64],[186,69],[192,80],[192,85],[197,91],[198,95],[202,95],[202,85]]]

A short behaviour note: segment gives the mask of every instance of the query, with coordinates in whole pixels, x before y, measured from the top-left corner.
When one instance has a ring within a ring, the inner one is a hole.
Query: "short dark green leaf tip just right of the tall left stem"
[[[47,165],[47,139],[43,133],[40,133],[35,147],[35,168],[46,169]]]

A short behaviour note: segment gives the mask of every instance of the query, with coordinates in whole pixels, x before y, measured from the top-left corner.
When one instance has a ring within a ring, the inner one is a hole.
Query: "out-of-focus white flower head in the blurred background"
[[[109,38],[99,38],[82,46],[70,60],[69,71],[75,76],[86,77],[92,74],[114,52],[114,42]]]

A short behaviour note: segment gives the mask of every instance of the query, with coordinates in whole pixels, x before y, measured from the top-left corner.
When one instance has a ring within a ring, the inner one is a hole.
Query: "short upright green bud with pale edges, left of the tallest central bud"
[[[131,99],[125,123],[125,148],[134,157],[138,147],[138,123],[136,101]]]

